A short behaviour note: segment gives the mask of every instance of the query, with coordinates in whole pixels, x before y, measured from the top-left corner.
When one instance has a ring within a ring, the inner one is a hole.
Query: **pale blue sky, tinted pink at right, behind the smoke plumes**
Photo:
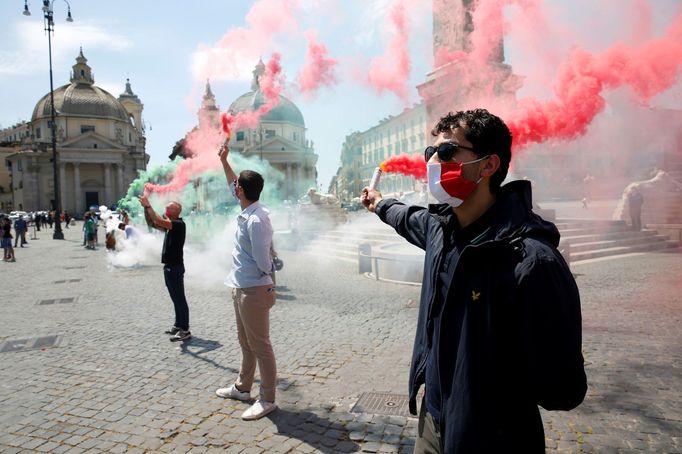
[[[351,74],[361,72],[367,59],[384,51],[387,36],[382,27],[391,0],[300,2],[303,5],[298,16],[300,30],[317,29],[330,56],[341,59],[346,68],[340,73],[336,86],[321,89],[313,99],[291,94],[306,120],[307,137],[315,142],[320,156],[318,182],[326,189],[338,167],[345,135],[367,129],[387,115],[399,113],[406,103],[392,93],[375,93],[358,83]],[[69,71],[81,45],[100,87],[118,96],[124,89],[126,77],[130,77],[133,91],[145,106],[143,118],[148,125],[147,153],[151,156],[151,164],[163,163],[175,141],[197,121],[196,110],[205,80],[192,71],[194,54],[199,46],[212,46],[234,27],[244,26],[253,3],[237,0],[71,0],[74,22],[68,23],[64,20],[66,3],[55,1],[55,87],[68,83]],[[422,3],[429,4],[427,0]],[[648,34],[654,36],[660,35],[671,18],[680,12],[678,0],[546,1],[550,35],[532,49],[515,35],[511,23],[505,42],[507,62],[517,74],[526,76],[526,86],[519,96],[551,97],[551,80],[556,67],[549,64],[550,56],[560,60],[573,46],[598,52],[616,41],[634,43],[644,38],[641,23],[637,23],[642,18],[633,15],[638,4],[651,7],[651,18],[645,19]],[[0,17],[4,19],[0,29],[1,127],[30,120],[35,103],[49,91],[42,2],[29,1],[30,17],[21,14],[23,6],[21,0],[0,2]],[[423,81],[430,70],[430,27],[430,10],[427,7],[414,10],[409,46],[411,87]],[[305,46],[301,33],[280,36],[271,46],[282,53],[283,69],[289,81],[295,78],[303,62]],[[254,54],[250,66],[255,65],[260,56]],[[263,55],[264,59],[267,57]],[[225,79],[212,82],[222,110],[249,91],[246,77]],[[678,83],[656,102],[682,108],[681,93]],[[417,101],[416,90],[412,89],[407,104]]]

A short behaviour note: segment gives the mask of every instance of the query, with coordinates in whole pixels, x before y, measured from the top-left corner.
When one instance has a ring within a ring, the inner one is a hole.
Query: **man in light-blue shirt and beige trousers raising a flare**
[[[275,411],[277,365],[270,343],[270,309],[275,304],[272,261],[272,224],[268,211],[260,204],[263,177],[253,170],[243,170],[237,176],[227,160],[229,148],[220,150],[220,162],[227,185],[239,201],[242,212],[237,216],[232,272],[225,285],[232,288],[232,304],[237,320],[237,338],[242,350],[242,362],[237,380],[216,390],[219,397],[249,401],[256,372],[260,372],[260,396],[244,413],[242,419],[254,420]]]

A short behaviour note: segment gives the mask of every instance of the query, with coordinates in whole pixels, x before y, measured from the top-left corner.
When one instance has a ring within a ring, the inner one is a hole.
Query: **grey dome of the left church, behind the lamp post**
[[[94,78],[81,50],[73,66],[71,83],[54,90],[54,105],[59,115],[107,118],[130,122],[123,105],[109,92],[94,85]],[[31,121],[50,117],[50,94],[33,109]]]

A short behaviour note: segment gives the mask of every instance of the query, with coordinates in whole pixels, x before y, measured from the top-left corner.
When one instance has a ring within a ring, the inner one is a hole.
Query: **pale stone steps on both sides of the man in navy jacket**
[[[555,223],[561,232],[559,249],[571,263],[679,247],[678,242],[655,230],[633,231],[623,221],[558,219]],[[330,260],[358,263],[361,243],[375,248],[405,240],[375,216],[363,214],[342,226],[319,232],[301,250]]]

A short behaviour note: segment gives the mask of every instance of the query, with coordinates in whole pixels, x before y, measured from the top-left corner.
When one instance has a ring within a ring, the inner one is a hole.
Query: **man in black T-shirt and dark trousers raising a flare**
[[[175,323],[165,333],[171,335],[171,342],[188,341],[192,333],[189,330],[189,306],[185,298],[185,221],[180,217],[182,205],[170,202],[161,217],[154,211],[147,196],[140,196],[139,199],[147,224],[165,232],[161,262],[166,288],[175,308]]]

